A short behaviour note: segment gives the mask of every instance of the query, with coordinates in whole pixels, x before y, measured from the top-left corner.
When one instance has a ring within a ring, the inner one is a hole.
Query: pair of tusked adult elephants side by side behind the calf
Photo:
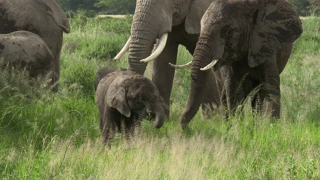
[[[130,37],[115,59],[128,50],[127,69],[141,75],[153,60],[152,81],[167,106],[170,66],[191,66],[182,128],[200,104],[204,111],[221,105],[227,117],[253,89],[252,109],[278,118],[279,74],[301,33],[300,18],[285,0],[136,0]],[[175,65],[179,44],[193,56],[184,65]]]

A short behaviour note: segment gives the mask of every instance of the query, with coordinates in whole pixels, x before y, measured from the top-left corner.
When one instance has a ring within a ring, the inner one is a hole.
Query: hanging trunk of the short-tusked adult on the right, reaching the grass
[[[200,70],[200,68],[210,63],[212,47],[208,42],[201,41],[203,40],[199,39],[193,54],[188,101],[180,116],[182,128],[187,126],[198,111],[207,85],[209,70]]]

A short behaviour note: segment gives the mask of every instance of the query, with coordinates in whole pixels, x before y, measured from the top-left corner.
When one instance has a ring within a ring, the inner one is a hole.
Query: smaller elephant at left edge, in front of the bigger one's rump
[[[51,85],[54,83],[54,57],[42,38],[32,32],[0,34],[0,59],[4,64],[26,68],[30,77],[51,73]]]

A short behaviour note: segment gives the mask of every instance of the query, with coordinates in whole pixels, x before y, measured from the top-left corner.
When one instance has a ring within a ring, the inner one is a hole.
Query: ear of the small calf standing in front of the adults
[[[121,85],[123,80],[115,78],[106,91],[106,103],[119,111],[122,115],[130,117],[131,111],[126,100],[126,91]]]

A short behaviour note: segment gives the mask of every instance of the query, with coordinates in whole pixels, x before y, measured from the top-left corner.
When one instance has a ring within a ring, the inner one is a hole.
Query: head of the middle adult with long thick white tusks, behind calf
[[[129,49],[128,69],[143,74],[146,62],[163,50],[172,26],[183,24],[190,34],[200,32],[200,19],[212,0],[136,0],[131,35],[115,59]],[[151,54],[156,39],[158,47]],[[150,55],[151,54],[151,55]]]

